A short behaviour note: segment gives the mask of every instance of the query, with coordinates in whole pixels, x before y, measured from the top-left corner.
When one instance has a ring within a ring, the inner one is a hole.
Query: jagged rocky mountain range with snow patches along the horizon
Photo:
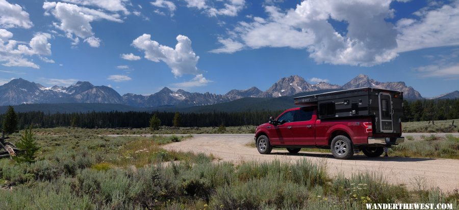
[[[266,91],[257,87],[245,90],[233,89],[226,94],[190,93],[183,89],[172,91],[164,87],[158,93],[144,96],[137,94],[119,95],[108,86],[95,86],[87,81],[79,81],[68,87],[45,87],[39,83],[24,79],[13,79],[0,86],[0,106],[19,104],[56,104],[56,103],[102,103],[122,104],[131,107],[191,107],[219,104],[242,98],[277,98],[292,96],[299,93],[315,91],[335,91],[359,87],[374,87],[402,91],[405,99],[421,99],[421,94],[404,82],[379,82],[360,74],[344,85],[319,82],[310,84],[300,76],[294,75],[279,79]],[[455,91],[438,97],[459,98]]]

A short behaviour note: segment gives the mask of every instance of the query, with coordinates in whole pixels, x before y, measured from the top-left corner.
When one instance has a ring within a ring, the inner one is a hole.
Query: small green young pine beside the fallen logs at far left
[[[25,130],[24,135],[21,135],[21,139],[16,143],[16,146],[21,150],[21,153],[14,158],[16,162],[35,162],[35,153],[38,149],[40,149],[40,147],[38,147],[37,142],[35,142],[34,134],[32,133],[32,126]]]

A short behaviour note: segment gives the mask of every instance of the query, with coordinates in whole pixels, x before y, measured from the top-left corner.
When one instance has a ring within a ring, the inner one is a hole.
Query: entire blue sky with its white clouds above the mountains
[[[367,74],[432,97],[459,89],[458,45],[458,1],[0,0],[0,84],[224,94]]]

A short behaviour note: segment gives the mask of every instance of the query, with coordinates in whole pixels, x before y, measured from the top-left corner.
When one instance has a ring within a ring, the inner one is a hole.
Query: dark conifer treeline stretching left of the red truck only
[[[181,113],[182,127],[218,127],[260,125],[268,122],[270,116],[277,116],[282,111],[245,111],[245,112],[210,112]],[[75,126],[80,128],[146,128],[153,114],[161,119],[162,126],[173,126],[175,112],[87,112],[87,113],[43,113],[41,111],[20,112],[18,128],[28,125],[34,128],[55,128]],[[0,122],[3,116],[0,115]]]

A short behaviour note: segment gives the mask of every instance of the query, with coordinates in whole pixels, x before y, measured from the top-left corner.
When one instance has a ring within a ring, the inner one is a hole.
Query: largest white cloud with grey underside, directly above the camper
[[[265,6],[267,18],[240,22],[228,34],[248,48],[290,47],[307,49],[317,63],[372,66],[397,56],[397,31],[386,21],[393,16],[391,1],[303,1],[282,11]],[[346,35],[336,32],[328,19],[348,23]],[[212,52],[232,53],[242,47],[223,45]]]

